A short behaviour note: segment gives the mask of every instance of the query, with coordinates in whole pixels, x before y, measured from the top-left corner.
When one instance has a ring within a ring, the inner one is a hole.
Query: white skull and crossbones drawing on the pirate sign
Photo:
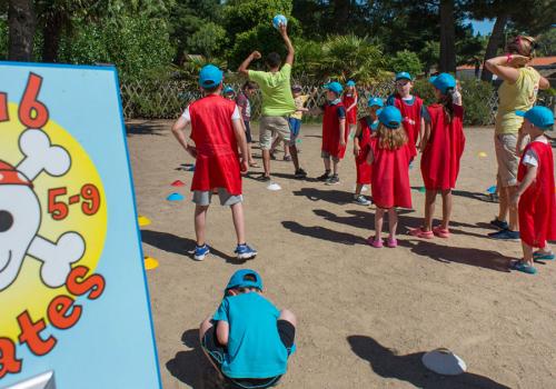
[[[58,288],[66,282],[71,263],[83,256],[85,240],[77,232],[66,232],[57,242],[38,235],[41,209],[32,181],[43,171],[51,177],[66,174],[71,159],[38,129],[21,133],[19,148],[24,158],[17,168],[0,160],[0,291],[18,278],[26,256],[41,261],[42,282]]]

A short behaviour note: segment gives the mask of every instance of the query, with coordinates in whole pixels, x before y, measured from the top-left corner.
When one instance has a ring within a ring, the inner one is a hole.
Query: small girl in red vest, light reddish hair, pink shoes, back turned
[[[373,167],[371,190],[373,201],[377,206],[375,215],[375,232],[367,242],[375,247],[383,247],[383,219],[388,212],[387,246],[395,248],[398,215],[396,207],[411,208],[411,192],[409,187],[409,164],[406,149],[407,134],[401,128],[401,113],[396,107],[386,107],[378,114],[379,126],[377,137],[371,138],[367,162]]]

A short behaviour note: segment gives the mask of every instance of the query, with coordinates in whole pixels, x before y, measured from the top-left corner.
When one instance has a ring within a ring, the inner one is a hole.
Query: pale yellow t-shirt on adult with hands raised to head
[[[520,68],[515,83],[504,81],[498,88],[498,112],[496,114],[496,133],[517,133],[523,118],[516,110],[527,111],[537,100],[540,74],[533,68]]]

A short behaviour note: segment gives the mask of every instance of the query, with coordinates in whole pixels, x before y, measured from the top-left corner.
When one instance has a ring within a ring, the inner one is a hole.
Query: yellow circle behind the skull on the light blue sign
[[[18,120],[18,106],[14,103],[9,104],[9,118],[10,120],[0,122],[0,160],[17,167],[26,158],[19,148],[19,140],[27,129]],[[42,131],[48,136],[52,146],[59,146],[68,152],[71,166],[60,177],[51,177],[42,171],[32,181],[33,188],[29,190],[34,191],[40,203],[41,221],[38,236],[56,245],[66,232],[80,235],[85,241],[85,253],[71,266],[86,266],[89,268],[89,273],[92,273],[102,253],[107,232],[106,197],[100,176],[85,149],[66,129],[50,119]],[[82,209],[82,207],[86,210],[90,209],[87,205],[92,205],[90,199],[85,198],[90,198],[90,196],[86,193],[83,197],[81,192],[83,186],[88,184],[90,187],[86,189],[95,187],[100,200],[93,215],[86,215]],[[64,188],[67,192],[53,199],[68,207],[68,215],[62,220],[54,220],[49,213],[49,191],[57,188]],[[70,205],[71,197],[73,203]],[[7,206],[9,205],[1,205],[0,208]],[[13,243],[18,245],[18,242]],[[20,332],[17,317],[21,312],[27,310],[33,321],[43,319],[48,322],[47,309],[50,301],[59,295],[72,296],[66,286],[50,288],[44,285],[40,276],[41,266],[42,261],[26,256],[14,281],[0,291],[0,337],[7,337],[17,342]]]

